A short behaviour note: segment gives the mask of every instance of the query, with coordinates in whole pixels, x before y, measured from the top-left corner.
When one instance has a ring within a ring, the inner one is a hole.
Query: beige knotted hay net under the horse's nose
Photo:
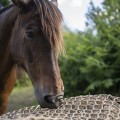
[[[0,120],[120,120],[120,97],[86,95],[65,98],[57,109],[39,105],[6,113]]]

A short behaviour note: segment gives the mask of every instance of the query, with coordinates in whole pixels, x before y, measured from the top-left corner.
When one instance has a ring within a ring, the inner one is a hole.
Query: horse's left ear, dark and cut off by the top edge
[[[31,0],[12,0],[19,8],[24,8]]]

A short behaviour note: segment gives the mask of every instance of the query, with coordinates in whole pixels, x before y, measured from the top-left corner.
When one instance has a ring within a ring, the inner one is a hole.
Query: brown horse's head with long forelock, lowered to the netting
[[[42,107],[55,108],[63,97],[58,52],[63,49],[62,15],[57,1],[12,0],[19,9],[11,36],[15,64],[28,73]]]

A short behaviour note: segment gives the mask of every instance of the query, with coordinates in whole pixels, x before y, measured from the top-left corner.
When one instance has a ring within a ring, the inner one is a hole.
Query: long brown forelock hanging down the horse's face
[[[39,21],[46,39],[50,40],[56,53],[64,53],[64,45],[61,31],[62,14],[59,9],[48,0],[34,0],[39,12]]]

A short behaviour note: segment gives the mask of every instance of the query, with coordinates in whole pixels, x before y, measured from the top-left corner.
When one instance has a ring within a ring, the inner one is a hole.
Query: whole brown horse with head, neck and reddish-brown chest
[[[57,1],[12,2],[0,11],[0,114],[16,82],[16,65],[28,73],[39,104],[55,108],[64,89],[57,60],[63,50]]]

